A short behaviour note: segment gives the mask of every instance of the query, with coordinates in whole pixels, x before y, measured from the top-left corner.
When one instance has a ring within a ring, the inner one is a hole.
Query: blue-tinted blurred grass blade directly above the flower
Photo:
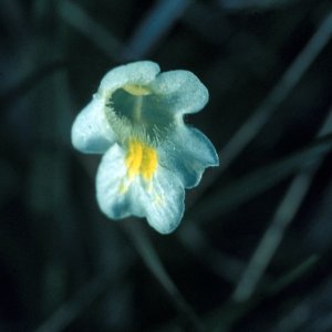
[[[181,17],[190,0],[159,0],[151,9],[144,20],[135,28],[135,32],[124,50],[125,60],[144,58],[151,49]]]

